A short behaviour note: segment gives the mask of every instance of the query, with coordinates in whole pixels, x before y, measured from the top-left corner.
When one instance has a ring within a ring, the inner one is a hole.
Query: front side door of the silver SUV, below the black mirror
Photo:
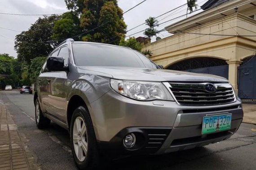
[[[57,55],[64,59],[64,66],[69,65],[69,50],[67,46],[61,47]],[[66,90],[68,72],[51,72],[48,77],[50,94],[47,98],[48,112],[55,118],[66,123]]]

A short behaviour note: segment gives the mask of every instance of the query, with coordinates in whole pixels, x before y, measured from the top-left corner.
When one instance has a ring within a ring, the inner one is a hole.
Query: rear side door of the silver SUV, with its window
[[[59,49],[53,51],[50,56],[57,56]],[[49,112],[49,95],[51,94],[50,77],[52,72],[49,72],[46,62],[41,70],[40,76],[38,77],[40,102],[42,104],[41,109],[43,112]]]

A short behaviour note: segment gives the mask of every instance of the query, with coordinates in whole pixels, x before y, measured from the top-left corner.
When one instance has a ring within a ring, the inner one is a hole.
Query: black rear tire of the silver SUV
[[[38,108],[39,109],[39,119],[37,118],[37,106],[39,107]],[[38,98],[35,99],[35,123],[39,129],[45,129],[45,128],[49,127],[50,123],[51,123],[50,119],[44,117],[42,110],[40,108],[40,104],[38,102]]]

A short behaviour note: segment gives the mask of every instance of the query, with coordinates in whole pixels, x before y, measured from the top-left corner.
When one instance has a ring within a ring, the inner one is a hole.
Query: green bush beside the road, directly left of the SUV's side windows
[[[31,60],[31,64],[27,70],[27,75],[29,76],[31,83],[34,83],[37,76],[39,76],[40,70],[42,69],[46,59],[46,57],[36,57]]]

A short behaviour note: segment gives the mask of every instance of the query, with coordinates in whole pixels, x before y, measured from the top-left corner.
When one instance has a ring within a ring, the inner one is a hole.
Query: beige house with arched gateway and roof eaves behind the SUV
[[[152,51],[150,59],[166,69],[211,67],[215,74],[222,68],[214,66],[226,65],[221,72],[237,91],[238,66],[256,51],[256,0],[208,0],[202,9],[167,26],[169,37],[142,50]]]

